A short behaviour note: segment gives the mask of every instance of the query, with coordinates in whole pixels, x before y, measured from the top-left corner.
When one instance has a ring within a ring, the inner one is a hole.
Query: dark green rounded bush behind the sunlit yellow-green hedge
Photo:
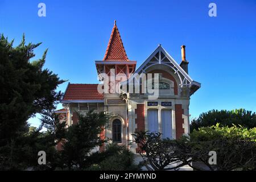
[[[245,109],[236,110],[210,110],[200,114],[199,118],[193,119],[190,131],[198,130],[200,127],[213,126],[220,123],[220,126],[243,126],[248,129],[256,127],[256,113]]]

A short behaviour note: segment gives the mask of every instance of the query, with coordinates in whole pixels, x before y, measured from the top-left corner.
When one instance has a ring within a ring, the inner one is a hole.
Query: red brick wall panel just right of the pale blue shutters
[[[182,114],[184,114],[182,105],[175,104],[176,139],[182,137],[182,135],[184,134],[184,128],[183,128],[184,119],[182,118]]]

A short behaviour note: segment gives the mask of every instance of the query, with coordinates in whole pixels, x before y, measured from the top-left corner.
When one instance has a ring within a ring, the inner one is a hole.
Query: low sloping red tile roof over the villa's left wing
[[[103,100],[97,87],[98,84],[68,84],[63,100]]]

